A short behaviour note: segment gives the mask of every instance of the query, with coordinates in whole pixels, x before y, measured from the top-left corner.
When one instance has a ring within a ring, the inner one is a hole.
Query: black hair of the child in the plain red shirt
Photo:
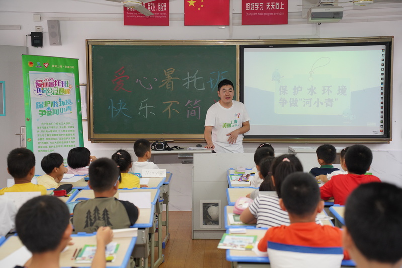
[[[348,173],[363,175],[370,168],[373,154],[370,148],[356,144],[349,147],[345,154],[345,164]]]

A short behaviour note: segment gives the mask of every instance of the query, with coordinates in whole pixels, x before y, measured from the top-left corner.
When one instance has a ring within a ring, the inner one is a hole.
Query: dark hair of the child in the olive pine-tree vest
[[[116,162],[109,158],[99,158],[88,168],[91,188],[96,192],[104,192],[113,187],[120,178],[120,170]]]

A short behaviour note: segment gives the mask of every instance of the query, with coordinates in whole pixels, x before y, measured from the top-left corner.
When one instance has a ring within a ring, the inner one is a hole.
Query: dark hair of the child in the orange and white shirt
[[[288,175],[282,183],[281,192],[289,214],[300,217],[313,214],[321,200],[317,180],[309,173],[295,172]]]

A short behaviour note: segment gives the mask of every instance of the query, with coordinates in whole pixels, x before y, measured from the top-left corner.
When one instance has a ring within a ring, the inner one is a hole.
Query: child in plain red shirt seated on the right
[[[360,184],[381,182],[373,175],[365,175],[370,169],[373,154],[371,150],[360,144],[350,146],[345,154],[346,175],[337,175],[321,186],[321,198],[328,200],[334,198],[334,204],[345,205],[346,198]]]

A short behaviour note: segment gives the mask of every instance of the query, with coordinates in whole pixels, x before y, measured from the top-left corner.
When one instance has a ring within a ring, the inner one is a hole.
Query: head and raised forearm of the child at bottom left
[[[72,233],[70,213],[63,201],[53,196],[29,200],[18,210],[16,228],[21,242],[32,253],[24,268],[60,267],[60,253],[70,242]],[[112,238],[109,227],[99,227],[91,267],[106,267],[105,247]]]

